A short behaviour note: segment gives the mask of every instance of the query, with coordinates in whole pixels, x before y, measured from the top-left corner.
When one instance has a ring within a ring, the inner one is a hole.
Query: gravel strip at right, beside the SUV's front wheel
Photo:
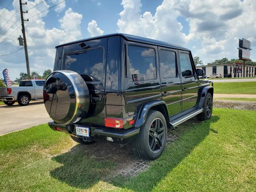
[[[214,99],[213,107],[227,109],[256,110],[256,102]]]

